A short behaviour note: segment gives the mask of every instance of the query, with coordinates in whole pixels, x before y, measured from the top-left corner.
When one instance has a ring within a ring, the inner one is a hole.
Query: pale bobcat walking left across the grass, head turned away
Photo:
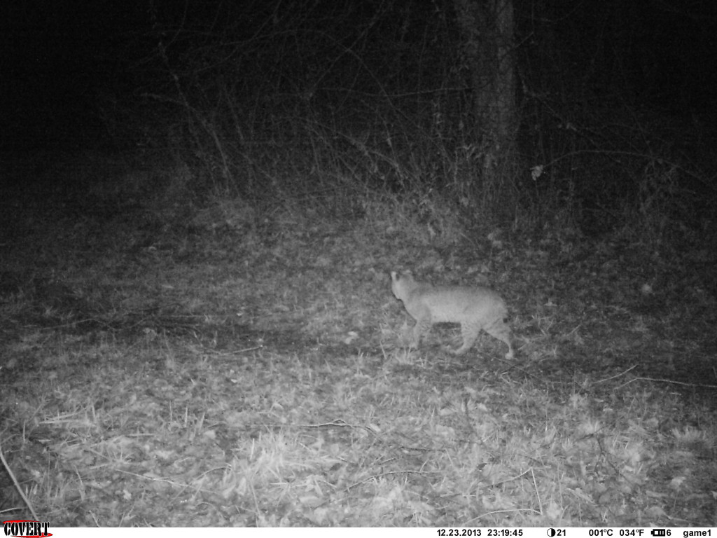
[[[506,359],[513,359],[511,329],[505,324],[508,309],[498,293],[488,288],[461,288],[437,286],[414,280],[410,272],[391,271],[391,291],[404,303],[406,311],[416,320],[411,346],[417,348],[421,338],[433,324],[441,322],[460,323],[463,345],[455,355],[470,349],[480,330],[508,345]]]

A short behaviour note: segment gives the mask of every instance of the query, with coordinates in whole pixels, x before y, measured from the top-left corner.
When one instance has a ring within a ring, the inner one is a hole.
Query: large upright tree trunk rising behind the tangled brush
[[[513,0],[453,0],[470,70],[478,154],[483,159],[480,196],[505,197],[515,176],[516,79]]]

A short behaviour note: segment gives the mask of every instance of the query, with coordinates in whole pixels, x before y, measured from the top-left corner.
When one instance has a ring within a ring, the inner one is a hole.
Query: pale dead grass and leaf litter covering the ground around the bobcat
[[[467,232],[426,200],[4,240],[0,434],[40,519],[717,524],[714,297],[639,245]],[[490,338],[449,357],[450,330],[397,346],[396,267],[499,288],[516,362]]]

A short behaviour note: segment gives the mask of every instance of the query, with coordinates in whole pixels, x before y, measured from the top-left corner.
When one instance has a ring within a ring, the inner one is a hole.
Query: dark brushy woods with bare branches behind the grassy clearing
[[[0,9],[6,152],[161,152],[193,203],[440,193],[516,227],[713,232],[713,1]]]

